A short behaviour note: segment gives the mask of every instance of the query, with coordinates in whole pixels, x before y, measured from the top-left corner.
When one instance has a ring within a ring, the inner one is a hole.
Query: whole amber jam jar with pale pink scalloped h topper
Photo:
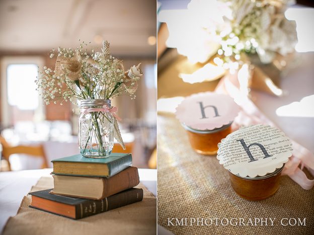
[[[204,92],[186,97],[176,117],[186,129],[191,147],[198,153],[214,155],[218,143],[231,133],[231,124],[240,107],[224,94]]]

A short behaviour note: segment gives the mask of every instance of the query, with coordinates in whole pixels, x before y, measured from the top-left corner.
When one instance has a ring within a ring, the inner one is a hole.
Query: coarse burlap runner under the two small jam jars
[[[185,130],[174,116],[159,115],[158,127],[159,224],[175,234],[313,234],[314,190],[303,190],[283,176],[274,196],[259,202],[242,199],[232,190],[228,173],[215,156],[192,150]],[[171,220],[175,224],[172,225],[168,218],[178,218],[179,223]],[[185,219],[184,225],[180,225],[182,218],[188,219],[188,225]],[[273,226],[270,221],[267,226],[224,226],[220,220],[218,225],[214,222],[191,226],[191,218],[237,218],[233,224],[239,218],[246,222],[249,218],[276,219]],[[297,224],[298,218],[306,218],[306,226],[281,225],[283,218],[296,218]]]

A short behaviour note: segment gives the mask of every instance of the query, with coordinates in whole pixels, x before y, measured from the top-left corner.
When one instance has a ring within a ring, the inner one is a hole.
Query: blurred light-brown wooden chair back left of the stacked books
[[[7,160],[9,165],[9,171],[11,171],[10,166],[10,155],[15,153],[22,153],[22,154],[29,154],[32,156],[37,156],[38,158],[43,159],[43,164],[41,168],[47,168],[47,159],[45,155],[45,151],[42,145],[36,145],[36,146],[25,146],[25,145],[18,145],[18,146],[11,146],[6,139],[0,135],[0,143],[2,144],[3,151],[2,155],[4,156],[5,160]]]

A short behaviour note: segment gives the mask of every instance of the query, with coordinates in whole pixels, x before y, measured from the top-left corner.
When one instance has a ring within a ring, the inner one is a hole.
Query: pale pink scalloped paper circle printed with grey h
[[[205,92],[184,99],[176,109],[176,117],[193,129],[213,130],[232,122],[239,111],[229,96]]]

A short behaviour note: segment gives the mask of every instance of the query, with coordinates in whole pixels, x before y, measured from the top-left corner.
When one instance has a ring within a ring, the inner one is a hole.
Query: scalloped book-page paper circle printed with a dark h
[[[277,128],[263,124],[234,131],[218,147],[219,163],[232,174],[243,177],[273,173],[292,155],[290,139]]]

